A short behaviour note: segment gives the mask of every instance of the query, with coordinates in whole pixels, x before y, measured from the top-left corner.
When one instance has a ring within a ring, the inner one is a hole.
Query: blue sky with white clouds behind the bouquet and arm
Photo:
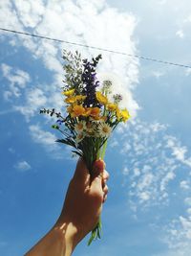
[[[191,65],[190,1],[3,0],[0,27],[131,55],[101,52],[132,118],[106,151],[103,237],[74,256],[190,255],[191,69],[133,57]],[[0,44],[0,255],[19,256],[58,218],[76,163],[39,109],[63,109],[63,49],[100,51],[2,31]]]

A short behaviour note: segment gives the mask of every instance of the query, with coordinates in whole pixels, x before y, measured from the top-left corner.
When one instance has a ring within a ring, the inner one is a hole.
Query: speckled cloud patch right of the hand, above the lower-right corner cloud
[[[132,120],[117,129],[114,147],[124,157],[122,174],[132,209],[167,205],[180,187],[187,188],[183,176],[188,180],[190,157],[187,148],[168,134],[168,126]],[[175,180],[179,187],[171,185]]]

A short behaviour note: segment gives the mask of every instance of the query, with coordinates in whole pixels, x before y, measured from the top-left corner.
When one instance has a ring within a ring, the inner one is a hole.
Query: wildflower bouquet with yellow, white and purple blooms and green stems
[[[121,95],[111,90],[112,81],[98,81],[96,66],[101,55],[96,58],[82,59],[76,51],[74,54],[64,51],[65,81],[62,87],[64,115],[55,109],[41,109],[40,113],[56,117],[52,128],[61,132],[57,142],[69,145],[73,152],[84,159],[90,173],[96,159],[104,158],[107,141],[112,131],[120,122],[126,122],[130,115],[128,110],[119,109]],[[92,230],[89,244],[100,238],[101,221]]]

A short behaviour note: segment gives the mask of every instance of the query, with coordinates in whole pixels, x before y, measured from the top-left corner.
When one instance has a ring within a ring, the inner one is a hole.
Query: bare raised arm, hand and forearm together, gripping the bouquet
[[[108,193],[109,174],[96,160],[90,175],[79,159],[60,217],[53,228],[25,256],[70,256],[75,246],[96,226]]]

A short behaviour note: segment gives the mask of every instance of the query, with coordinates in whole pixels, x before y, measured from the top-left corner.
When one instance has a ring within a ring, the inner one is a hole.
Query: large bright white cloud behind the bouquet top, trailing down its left
[[[132,56],[137,53],[137,44],[133,37],[137,26],[135,16],[111,8],[104,0],[67,0],[64,2],[50,0],[47,3],[19,0],[14,4],[11,1],[3,1],[0,21],[1,26],[8,29],[116,50]],[[138,83],[138,58],[130,56],[127,58],[91,48],[60,44],[29,36],[12,37],[10,34],[2,34],[4,35],[2,39],[10,42],[14,50],[17,46],[23,46],[36,61],[42,60],[46,72],[52,75],[52,82],[42,84],[34,79],[36,76],[29,74],[27,76],[27,73],[22,73],[21,69],[15,69],[5,63],[2,65],[4,76],[11,82],[9,88],[4,91],[5,100],[11,100],[14,97],[19,100],[22,94],[22,101],[17,101],[11,108],[25,116],[30,124],[33,141],[40,143],[46,151],[53,154],[53,151],[57,150],[58,154],[59,148],[53,142],[55,137],[51,132],[35,124],[32,118],[36,117],[42,107],[54,107],[58,111],[62,108],[60,87],[63,80],[61,63],[63,48],[71,51],[78,50],[84,58],[95,57],[101,53],[103,59],[99,72],[112,71],[120,78],[122,86],[117,84],[115,89],[123,95],[124,103],[131,115],[136,115],[138,104],[133,97],[132,89]],[[25,86],[30,80],[33,86]],[[57,157],[56,153],[54,157]]]

